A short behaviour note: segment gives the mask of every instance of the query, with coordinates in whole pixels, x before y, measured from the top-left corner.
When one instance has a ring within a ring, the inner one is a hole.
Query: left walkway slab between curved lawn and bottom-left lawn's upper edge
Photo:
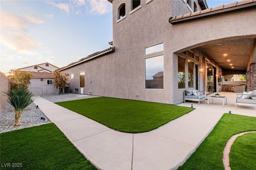
[[[82,119],[75,119],[56,123],[61,131],[65,132],[66,137],[71,142],[101,133],[110,128],[100,124],[96,121],[84,117]],[[74,133],[75,132],[75,133]]]

